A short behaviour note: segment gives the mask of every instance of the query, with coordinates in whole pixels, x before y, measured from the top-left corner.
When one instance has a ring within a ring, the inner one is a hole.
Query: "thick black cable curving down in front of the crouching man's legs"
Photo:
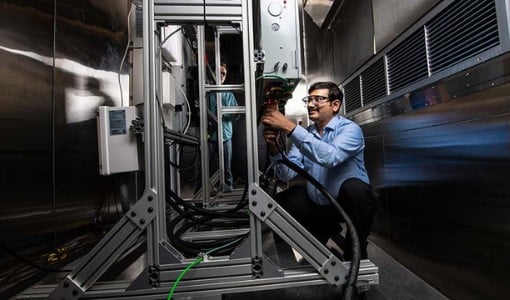
[[[283,158],[278,160],[278,162],[285,164],[287,167],[294,170],[299,175],[303,176],[305,179],[310,181],[310,183],[313,184],[329,200],[329,202],[338,210],[340,215],[344,218],[345,224],[347,225],[347,230],[349,231],[349,233],[351,235],[353,254],[352,254],[351,265],[349,267],[349,272],[346,276],[346,283],[345,283],[344,289],[342,290],[342,299],[351,299],[352,292],[356,288],[356,281],[358,278],[360,258],[361,258],[359,238],[358,238],[356,229],[354,227],[354,224],[352,223],[352,221],[349,218],[349,216],[347,215],[347,213],[340,206],[340,204],[338,204],[336,199],[331,195],[331,193],[320,182],[317,181],[317,179],[312,177],[308,172],[301,169],[295,163],[291,162],[286,156],[282,155],[282,157]]]

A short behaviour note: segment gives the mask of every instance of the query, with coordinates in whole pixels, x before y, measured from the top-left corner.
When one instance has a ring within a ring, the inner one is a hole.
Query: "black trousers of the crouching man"
[[[278,193],[275,200],[303,225],[319,242],[326,244],[331,236],[340,233],[342,216],[331,205],[322,206],[308,198],[306,187],[296,185]],[[375,196],[370,185],[351,178],[340,187],[336,201],[340,204],[356,228],[361,248],[361,258],[367,258],[367,238],[376,210]],[[346,237],[344,260],[352,259],[352,242]]]

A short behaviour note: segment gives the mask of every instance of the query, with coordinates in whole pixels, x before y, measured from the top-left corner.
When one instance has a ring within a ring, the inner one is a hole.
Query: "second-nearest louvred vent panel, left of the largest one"
[[[425,32],[419,30],[387,55],[390,92],[428,76]]]

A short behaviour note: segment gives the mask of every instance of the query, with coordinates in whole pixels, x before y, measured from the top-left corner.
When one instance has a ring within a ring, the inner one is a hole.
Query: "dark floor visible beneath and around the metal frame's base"
[[[297,262],[299,255],[293,255],[287,253],[281,248],[277,249],[277,243],[274,242],[273,233],[265,231],[263,235],[263,251],[266,257],[272,260],[276,265],[281,268],[292,268],[302,267]],[[287,246],[288,247],[288,246]],[[290,248],[289,248],[290,249]],[[133,251],[136,252],[136,251]],[[126,280],[133,281],[138,274],[140,274],[145,268],[145,254],[134,254],[134,259],[128,265],[120,267],[116,271],[105,274],[102,277],[103,280]],[[278,254],[280,253],[280,254]],[[294,253],[296,254],[296,253]],[[297,256],[297,257],[296,257]],[[374,263],[379,269],[379,284],[372,285],[368,291],[363,292],[360,295],[355,295],[353,299],[366,299],[366,300],[443,300],[448,299],[439,291],[428,285],[426,282],[421,280],[419,277],[414,275],[412,272],[407,270],[404,266],[400,265],[391,256],[386,254],[384,250],[377,247],[374,243],[369,241],[368,245],[368,256],[370,261]],[[66,266],[66,269],[73,269],[77,265],[77,261],[70,263]],[[112,271],[112,270],[110,270]],[[65,273],[54,273],[46,278],[40,280],[33,285],[39,284],[55,284],[60,281]],[[111,277],[111,276],[113,277]],[[32,285],[32,286],[33,286]],[[26,292],[26,290],[25,290]],[[16,295],[24,294],[23,291],[16,292]],[[11,294],[12,295],[12,294]],[[293,287],[286,289],[272,289],[262,290],[258,292],[246,292],[237,294],[223,295],[222,297],[217,296],[213,298],[193,298],[193,300],[299,300],[299,299],[317,299],[317,300],[328,300],[328,299],[340,299],[341,289],[339,287],[331,285],[317,285],[317,286],[303,286]],[[14,297],[1,297],[2,299],[16,299]],[[182,298],[181,298],[182,299]],[[177,298],[179,300],[179,298]]]

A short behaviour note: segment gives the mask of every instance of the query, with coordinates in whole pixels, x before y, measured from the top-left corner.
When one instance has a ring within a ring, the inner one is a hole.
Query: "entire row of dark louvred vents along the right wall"
[[[406,39],[387,53],[382,52],[379,59],[373,58],[361,74],[353,74],[343,83],[346,113],[410,85],[417,88],[420,81],[468,59],[470,66],[477,64],[474,57],[500,45],[495,1],[452,0],[435,15],[424,16],[427,19],[422,19],[422,26],[406,32]],[[485,59],[494,56],[488,52],[483,55]],[[451,68],[451,72],[458,71]]]

